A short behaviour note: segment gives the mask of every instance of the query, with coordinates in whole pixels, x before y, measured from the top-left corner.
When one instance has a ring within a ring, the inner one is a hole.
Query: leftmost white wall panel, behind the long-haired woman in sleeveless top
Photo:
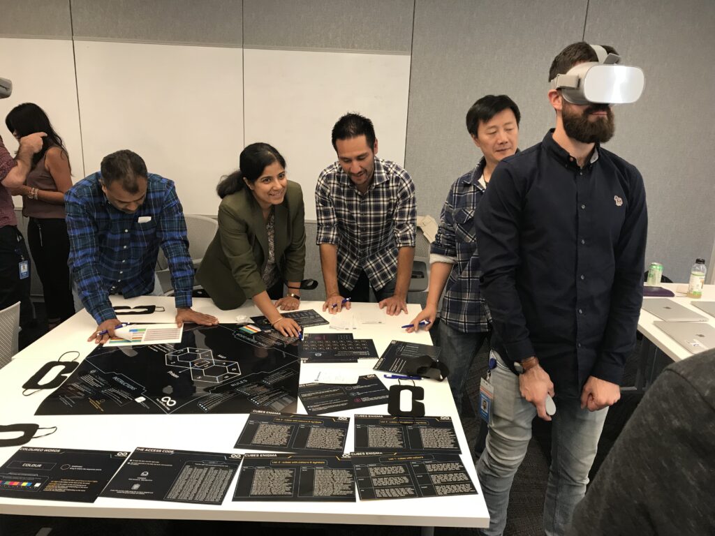
[[[64,140],[72,180],[84,177],[82,141],[79,135],[77,86],[74,83],[72,41],[0,38],[0,76],[12,80],[13,91],[0,100],[0,133],[12,154],[17,143],[5,126],[5,116],[18,104],[34,102],[46,112]],[[15,197],[16,206],[21,198]]]

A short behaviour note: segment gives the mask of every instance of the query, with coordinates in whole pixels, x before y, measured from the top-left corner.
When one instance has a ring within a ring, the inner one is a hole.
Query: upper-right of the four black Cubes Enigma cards
[[[357,452],[461,452],[451,417],[355,415],[354,422]]]

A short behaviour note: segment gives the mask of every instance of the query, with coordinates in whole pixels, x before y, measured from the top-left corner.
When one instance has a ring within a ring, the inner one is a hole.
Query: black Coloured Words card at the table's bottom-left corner
[[[94,502],[128,455],[21,447],[0,467],[0,497]]]

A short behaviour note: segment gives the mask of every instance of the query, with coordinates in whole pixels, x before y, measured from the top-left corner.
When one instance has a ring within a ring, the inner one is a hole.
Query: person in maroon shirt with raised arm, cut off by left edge
[[[0,78],[0,99],[9,97],[12,83]],[[32,155],[42,149],[44,132],[20,138],[15,157],[5,148],[0,137],[0,309],[20,302],[20,325],[34,319],[30,302],[30,256],[22,233],[17,229],[15,207],[10,190],[25,184],[32,167]]]

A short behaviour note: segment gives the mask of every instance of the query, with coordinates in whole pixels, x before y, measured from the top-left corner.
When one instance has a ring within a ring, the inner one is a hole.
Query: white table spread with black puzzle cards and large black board
[[[173,320],[174,299],[169,297],[139,297],[122,299],[112,297],[114,305],[156,304],[165,308],[163,313],[122,317],[132,322],[167,322]],[[321,312],[322,302],[305,302],[301,309]],[[352,304],[355,318],[381,324],[358,324],[351,332],[355,338],[372,338],[378,354],[390,340],[406,340],[431,344],[427,332],[420,330],[408,334],[400,325],[407,324],[420,310],[418,304],[410,304],[410,314],[389,317],[377,304]],[[253,306],[232,311],[217,309],[210,299],[194,299],[194,309],[214,314],[220,322],[235,322],[237,314],[256,316],[260,314]],[[330,320],[331,315],[322,313]],[[344,312],[340,314],[345,314]],[[233,445],[247,420],[247,415],[34,415],[40,402],[49,394],[37,392],[23,396],[21,385],[26,382],[43,362],[56,360],[67,350],[77,350],[80,357],[92,352],[94,343],[87,337],[96,324],[87,312],[79,312],[71,319],[52,330],[45,337],[24,349],[0,370],[0,389],[4,392],[0,424],[33,422],[40,427],[57,427],[53,435],[38,437],[26,443],[26,447],[62,447],[89,450],[131,452],[135,447],[150,447],[175,450],[198,450],[204,452],[256,452],[234,449]],[[306,333],[335,332],[327,325],[310,327]],[[71,356],[64,357],[64,360]],[[372,374],[375,359],[361,360],[355,364],[302,364],[300,383],[315,379],[320,367],[345,367],[358,369],[361,374]],[[386,386],[398,380],[380,379]],[[433,527],[486,527],[488,511],[481,495],[476,471],[471,459],[470,447],[458,418],[455,404],[447,382],[423,379],[417,382],[425,388],[425,415],[453,417],[462,454],[462,461],[472,478],[478,495],[457,497],[429,497],[419,499],[373,500],[357,502],[234,502],[233,492],[237,482],[234,478],[221,506],[161,502],[151,500],[124,500],[99,497],[92,504],[47,500],[20,500],[0,497],[0,513],[13,515],[44,515],[64,517],[117,517],[139,519],[175,520],[231,520],[270,522],[310,522],[360,525],[411,525],[423,527],[423,534],[433,533]],[[304,412],[300,400],[298,412]],[[346,410],[331,415],[388,415],[387,405]],[[353,424],[347,435],[345,451],[351,452]],[[45,431],[37,432],[41,434]],[[19,447],[0,448],[0,463],[6,462]]]

